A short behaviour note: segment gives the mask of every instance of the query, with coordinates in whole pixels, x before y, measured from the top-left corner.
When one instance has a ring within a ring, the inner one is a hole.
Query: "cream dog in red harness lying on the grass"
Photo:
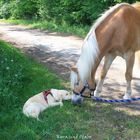
[[[23,106],[23,113],[28,117],[37,118],[46,108],[63,106],[62,100],[70,100],[72,95],[66,90],[51,89],[29,98]]]

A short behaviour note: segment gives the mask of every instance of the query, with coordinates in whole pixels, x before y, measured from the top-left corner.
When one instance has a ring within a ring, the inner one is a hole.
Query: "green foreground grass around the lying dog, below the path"
[[[48,88],[64,88],[64,81],[11,45],[0,41],[0,140],[138,140],[140,116],[116,111],[118,105],[85,101],[49,108],[40,120],[27,118],[22,106]]]

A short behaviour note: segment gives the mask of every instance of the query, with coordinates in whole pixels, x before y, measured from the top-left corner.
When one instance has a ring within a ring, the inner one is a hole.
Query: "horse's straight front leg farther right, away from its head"
[[[134,60],[135,60],[135,52],[129,52],[125,55],[125,61],[126,61],[126,73],[125,73],[125,78],[126,78],[126,92],[124,95],[124,99],[130,99],[131,96],[131,80],[132,80],[132,72],[133,72],[133,65],[134,65]]]

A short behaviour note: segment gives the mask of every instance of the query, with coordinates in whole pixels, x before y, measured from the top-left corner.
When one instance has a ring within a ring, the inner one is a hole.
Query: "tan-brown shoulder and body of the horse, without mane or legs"
[[[110,51],[135,51],[139,46],[139,37],[140,11],[129,4],[122,4],[97,28],[99,45]]]

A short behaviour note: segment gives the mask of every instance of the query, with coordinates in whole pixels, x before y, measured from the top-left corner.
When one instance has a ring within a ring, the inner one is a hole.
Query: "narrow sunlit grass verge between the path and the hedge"
[[[58,24],[54,21],[33,21],[33,20],[0,20],[0,22],[7,22],[12,24],[28,25],[30,28],[50,30],[60,33],[68,33],[72,35],[77,35],[79,37],[85,37],[89,31],[89,26],[71,26],[66,23]]]

